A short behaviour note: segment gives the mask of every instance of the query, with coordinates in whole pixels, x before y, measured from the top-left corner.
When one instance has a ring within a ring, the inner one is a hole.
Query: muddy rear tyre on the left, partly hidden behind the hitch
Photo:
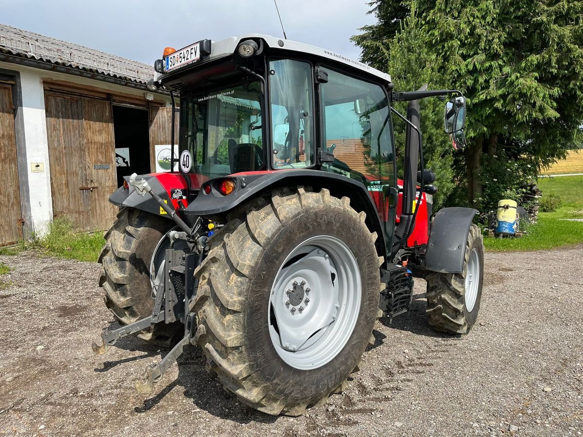
[[[99,255],[99,286],[105,291],[104,301],[121,325],[134,323],[152,314],[150,261],[160,239],[173,227],[167,218],[133,208],[117,214],[105,235],[106,245]],[[184,328],[180,323],[158,323],[142,331],[138,337],[162,346],[170,346]]]

